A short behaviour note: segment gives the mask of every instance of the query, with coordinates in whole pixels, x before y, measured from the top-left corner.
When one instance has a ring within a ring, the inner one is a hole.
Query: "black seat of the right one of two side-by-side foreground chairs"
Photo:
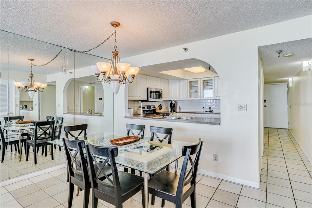
[[[142,186],[144,182],[143,177],[126,173],[124,171],[118,171],[118,177],[121,188],[121,196],[126,195],[134,189],[138,189],[139,186]],[[113,176],[110,176],[110,179],[113,180]],[[106,179],[103,180],[103,182],[111,185],[111,183]],[[94,191],[98,191],[102,194],[109,195],[112,198],[115,198],[114,189],[108,188],[101,184],[98,184],[98,187]]]

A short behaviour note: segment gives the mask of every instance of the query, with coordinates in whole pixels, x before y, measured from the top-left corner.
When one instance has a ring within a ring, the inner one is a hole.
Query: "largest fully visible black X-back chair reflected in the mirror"
[[[51,141],[54,135],[54,124],[55,120],[52,121],[36,121],[34,122],[35,132],[33,134],[32,140],[27,141],[27,152],[26,152],[26,161],[28,161],[29,148],[32,146],[34,150],[37,147],[42,147],[45,149],[45,156],[47,153],[47,146],[51,146],[51,159],[53,160],[53,146],[48,143]],[[47,126],[47,127],[41,127]],[[37,164],[37,151],[34,151],[34,161],[35,165]]]

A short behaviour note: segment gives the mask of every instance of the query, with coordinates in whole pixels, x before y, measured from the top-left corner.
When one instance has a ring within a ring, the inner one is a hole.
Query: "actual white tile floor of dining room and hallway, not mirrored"
[[[311,175],[312,166],[290,132],[265,128],[260,189],[198,174],[196,206],[312,207]],[[0,193],[1,207],[67,207],[66,168],[1,187]],[[74,197],[72,207],[82,207],[82,193]],[[91,198],[89,204],[91,207]],[[182,207],[189,208],[190,205],[190,199],[187,199]],[[99,200],[98,207],[114,206]],[[142,207],[141,193],[124,202],[123,207]],[[149,204],[149,207],[161,207],[161,199],[156,198],[155,205]],[[175,206],[166,201],[165,207]]]

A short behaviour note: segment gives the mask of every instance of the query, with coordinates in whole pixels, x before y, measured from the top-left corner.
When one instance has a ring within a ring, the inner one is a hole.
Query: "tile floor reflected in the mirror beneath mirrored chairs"
[[[54,160],[51,160],[49,152],[46,157],[44,155],[41,156],[40,148],[39,153],[37,154],[37,165],[34,164],[32,147],[29,151],[28,161],[26,161],[24,147],[22,147],[22,161],[19,161],[18,152],[14,150],[14,146],[13,151],[11,152],[10,150],[11,148],[8,147],[4,156],[4,162],[0,163],[0,181],[8,179],[9,176],[10,178],[13,178],[66,162],[64,152],[59,151],[58,147],[54,150]]]

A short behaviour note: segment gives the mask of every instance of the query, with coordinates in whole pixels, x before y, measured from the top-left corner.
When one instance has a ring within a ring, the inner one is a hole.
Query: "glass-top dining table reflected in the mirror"
[[[56,128],[57,126],[64,126],[63,124],[55,124],[54,125]],[[20,148],[20,153],[18,154],[19,156],[19,161],[22,160],[22,143],[21,143],[21,135],[23,133],[29,133],[29,134],[34,134],[35,132],[35,126],[33,125],[33,123],[31,124],[23,124],[23,125],[17,125],[15,123],[9,122],[6,124],[1,125],[1,128],[8,131],[8,132],[12,132],[13,134],[9,133],[9,142],[10,142],[10,136],[15,137],[14,134],[18,135],[18,145]],[[49,126],[41,126],[42,129],[46,130],[47,128],[49,128]],[[38,129],[38,132],[41,132],[40,129]]]

